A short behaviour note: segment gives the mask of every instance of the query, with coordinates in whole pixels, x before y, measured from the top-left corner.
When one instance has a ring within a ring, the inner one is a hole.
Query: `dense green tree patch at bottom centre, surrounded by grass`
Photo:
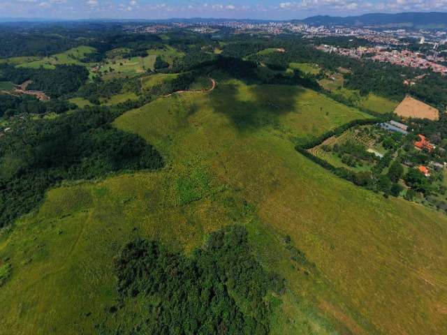
[[[116,271],[122,299],[158,301],[154,318],[134,326],[145,334],[269,334],[268,295],[284,290],[283,280],[255,260],[240,225],[213,232],[191,257],[136,239],[117,258]]]

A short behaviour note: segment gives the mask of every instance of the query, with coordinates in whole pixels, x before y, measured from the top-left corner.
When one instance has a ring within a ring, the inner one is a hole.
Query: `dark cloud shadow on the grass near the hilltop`
[[[279,85],[225,83],[212,92],[216,112],[225,114],[239,131],[279,126],[279,116],[298,112],[296,101],[305,89]]]

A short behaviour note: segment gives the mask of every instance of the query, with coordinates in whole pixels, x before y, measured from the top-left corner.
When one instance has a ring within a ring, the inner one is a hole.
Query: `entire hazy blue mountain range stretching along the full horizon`
[[[184,22],[194,24],[199,22],[281,22],[279,20],[256,20],[256,19],[223,19],[223,18],[172,18],[163,20],[151,19],[87,19],[87,20],[54,20],[54,19],[33,19],[25,17],[0,17],[0,22],[54,22],[54,21],[103,21],[103,22]],[[282,21],[284,22],[284,21]],[[285,22],[301,22],[312,25],[325,26],[358,26],[375,28],[414,28],[414,29],[447,29],[447,13],[369,13],[358,16],[337,17],[328,15],[317,15],[307,17],[304,20],[286,20]]]

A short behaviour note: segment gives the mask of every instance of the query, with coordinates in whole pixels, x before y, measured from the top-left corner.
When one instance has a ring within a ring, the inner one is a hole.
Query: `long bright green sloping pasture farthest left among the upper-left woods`
[[[50,57],[45,57],[43,59],[39,59],[37,61],[30,61],[26,63],[22,63],[18,65],[19,67],[24,68],[40,68],[43,66],[43,68],[54,68],[56,65],[86,65],[85,63],[82,63],[80,60],[87,56],[87,54],[91,54],[92,52],[95,52],[94,47],[87,47],[87,46],[80,46],[80,47],[73,47],[70,50],[67,50],[66,52],[62,52],[60,54],[54,54]]]

